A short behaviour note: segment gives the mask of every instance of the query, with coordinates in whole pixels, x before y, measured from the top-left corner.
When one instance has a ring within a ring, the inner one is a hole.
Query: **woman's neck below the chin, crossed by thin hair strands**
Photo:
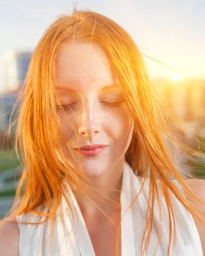
[[[121,186],[122,186],[122,176],[124,169],[124,158],[122,158],[117,164],[115,164],[112,169],[109,169],[100,177],[95,177],[92,182],[98,185],[93,185],[93,188],[83,183],[79,178],[77,179],[78,184],[86,189],[85,195],[81,192],[73,183],[69,183],[72,187],[73,193],[75,195],[76,200],[78,201],[78,205],[81,209],[81,212],[86,218],[90,217],[100,217],[103,212],[110,216],[113,212],[120,209],[120,195],[121,195]],[[87,177],[87,180],[91,181],[90,177]],[[102,186],[102,187],[101,187]],[[98,191],[96,191],[97,189]],[[115,189],[117,191],[113,191]],[[91,193],[92,195],[90,195]],[[92,201],[90,201],[87,196],[90,197]],[[98,198],[95,198],[98,197]],[[101,201],[103,200],[103,201]],[[107,204],[107,203],[110,204]],[[101,210],[103,212],[101,212]]]

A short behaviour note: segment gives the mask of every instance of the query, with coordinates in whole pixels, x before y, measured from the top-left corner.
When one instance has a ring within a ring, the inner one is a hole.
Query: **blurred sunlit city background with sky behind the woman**
[[[1,0],[0,1],[0,218],[9,211],[20,163],[12,144],[4,145],[12,106],[43,32],[59,15],[91,9],[121,25],[134,39],[156,92],[182,121],[205,131],[204,0]],[[149,56],[150,58],[148,58]],[[15,117],[15,112],[14,112]],[[15,127],[12,128],[12,136]],[[179,134],[180,135],[180,134]],[[193,131],[187,129],[187,142]],[[203,151],[203,148],[202,148]],[[187,159],[179,155],[182,162]],[[195,175],[204,177],[204,158]],[[186,172],[190,172],[187,168]]]

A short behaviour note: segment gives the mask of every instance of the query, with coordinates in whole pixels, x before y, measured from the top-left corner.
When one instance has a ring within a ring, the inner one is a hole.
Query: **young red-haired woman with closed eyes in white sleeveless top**
[[[90,11],[60,17],[20,99],[24,169],[2,256],[203,255],[204,180],[174,164],[164,134],[176,140],[124,29]]]

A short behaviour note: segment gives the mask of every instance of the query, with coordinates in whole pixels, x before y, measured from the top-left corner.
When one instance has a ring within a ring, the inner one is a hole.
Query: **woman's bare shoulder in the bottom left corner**
[[[8,219],[14,220],[16,219]],[[19,256],[19,229],[18,224],[0,221],[0,255]]]

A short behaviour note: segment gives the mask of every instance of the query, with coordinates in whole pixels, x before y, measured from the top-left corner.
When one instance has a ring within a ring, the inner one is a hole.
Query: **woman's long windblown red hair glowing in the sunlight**
[[[61,151],[58,130],[60,124],[55,108],[56,101],[58,102],[58,95],[54,89],[55,58],[69,38],[99,44],[107,52],[134,119],[134,132],[125,155],[126,161],[133,172],[137,169],[138,175],[143,175],[145,180],[148,169],[150,170],[150,192],[143,234],[145,246],[141,247],[141,255],[149,245],[155,200],[160,209],[159,186],[165,196],[170,220],[169,254],[171,234],[174,233],[176,238],[169,190],[196,219],[204,222],[193,204],[184,197],[185,192],[200,203],[199,198],[193,195],[185,184],[182,170],[176,159],[174,160],[174,151],[166,147],[164,138],[169,137],[171,145],[175,147],[178,145],[189,157],[200,153],[183,145],[173,135],[171,125],[176,125],[177,122],[182,124],[182,121],[157,99],[141,53],[130,35],[113,20],[91,11],[74,9],[72,15],[58,18],[43,34],[32,54],[25,83],[14,105],[15,108],[21,102],[16,119],[14,147],[17,154],[20,150],[22,160],[20,157],[19,160],[23,166],[23,173],[17,187],[12,212],[4,220],[24,212],[43,215],[36,209],[46,203],[49,207],[46,220],[51,220],[53,228],[54,214],[61,202],[61,195],[64,195],[62,181],[65,176],[69,178],[72,172],[75,172],[84,180]],[[173,183],[171,177],[178,181],[183,191]],[[73,182],[75,183],[75,180]],[[78,186],[78,183],[75,185]],[[89,185],[92,186],[90,183]],[[80,186],[78,188],[82,190]],[[174,229],[171,226],[172,222]],[[116,250],[118,251],[118,244]]]

